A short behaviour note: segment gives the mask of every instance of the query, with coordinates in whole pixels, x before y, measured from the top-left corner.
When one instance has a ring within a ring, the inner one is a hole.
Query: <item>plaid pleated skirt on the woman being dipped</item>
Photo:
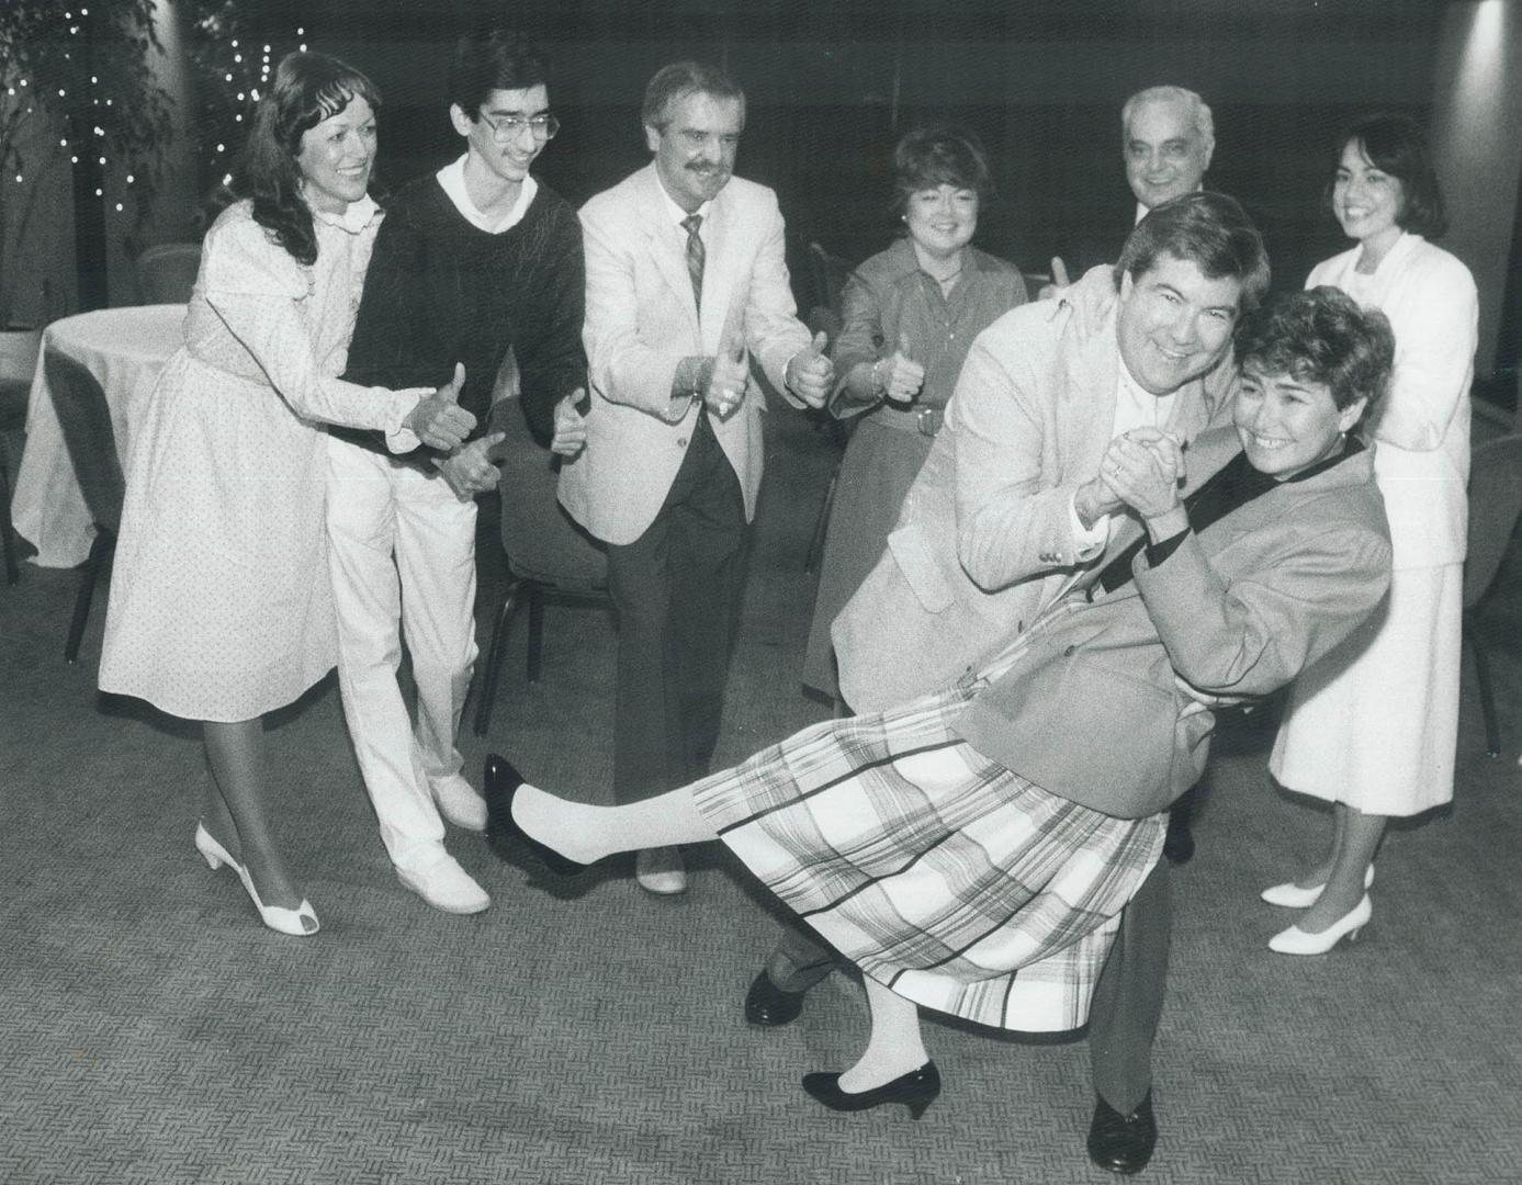
[[[693,799],[752,873],[895,993],[998,1028],[1076,1028],[1166,814],[1113,818],[989,761],[951,730],[971,694],[816,724]]]

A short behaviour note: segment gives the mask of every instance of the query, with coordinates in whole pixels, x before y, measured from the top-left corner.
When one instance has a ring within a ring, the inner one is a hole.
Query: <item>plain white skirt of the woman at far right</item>
[[[1464,566],[1396,569],[1390,596],[1289,694],[1269,771],[1370,815],[1454,797]]]

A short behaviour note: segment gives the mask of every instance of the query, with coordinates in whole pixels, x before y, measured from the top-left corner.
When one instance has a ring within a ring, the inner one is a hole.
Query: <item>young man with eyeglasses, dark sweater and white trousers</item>
[[[486,826],[455,729],[476,657],[475,496],[498,484],[501,417],[551,446],[586,388],[584,262],[575,210],[530,169],[559,131],[540,50],[507,32],[461,38],[449,120],[464,155],[387,204],[345,377],[394,388],[447,382],[481,424],[454,453],[396,462],[374,438],[333,434],[327,532],[344,716],[397,876],[446,913],[490,897],[444,850],[449,821]],[[521,397],[493,405],[507,351]],[[514,406],[516,405],[516,406]],[[559,447],[559,446],[557,446]],[[426,450],[420,450],[426,452]],[[417,683],[408,718],[402,637]]]

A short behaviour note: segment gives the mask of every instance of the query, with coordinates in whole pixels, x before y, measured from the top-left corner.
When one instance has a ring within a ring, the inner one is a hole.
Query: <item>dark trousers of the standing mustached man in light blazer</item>
[[[706,412],[654,522],[607,549],[618,608],[613,797],[638,802],[708,773],[740,610],[746,507]]]

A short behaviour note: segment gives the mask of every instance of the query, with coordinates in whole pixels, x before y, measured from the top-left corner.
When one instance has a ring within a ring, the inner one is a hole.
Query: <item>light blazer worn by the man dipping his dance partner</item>
[[[974,342],[887,549],[834,621],[840,691],[854,710],[976,671],[1113,552],[1111,543],[1079,560],[1070,507],[1111,440],[1116,309],[1093,327],[1079,321],[1067,301],[1040,301]],[[1224,359],[1183,386],[1169,430],[1190,440],[1228,420],[1234,383]]]

